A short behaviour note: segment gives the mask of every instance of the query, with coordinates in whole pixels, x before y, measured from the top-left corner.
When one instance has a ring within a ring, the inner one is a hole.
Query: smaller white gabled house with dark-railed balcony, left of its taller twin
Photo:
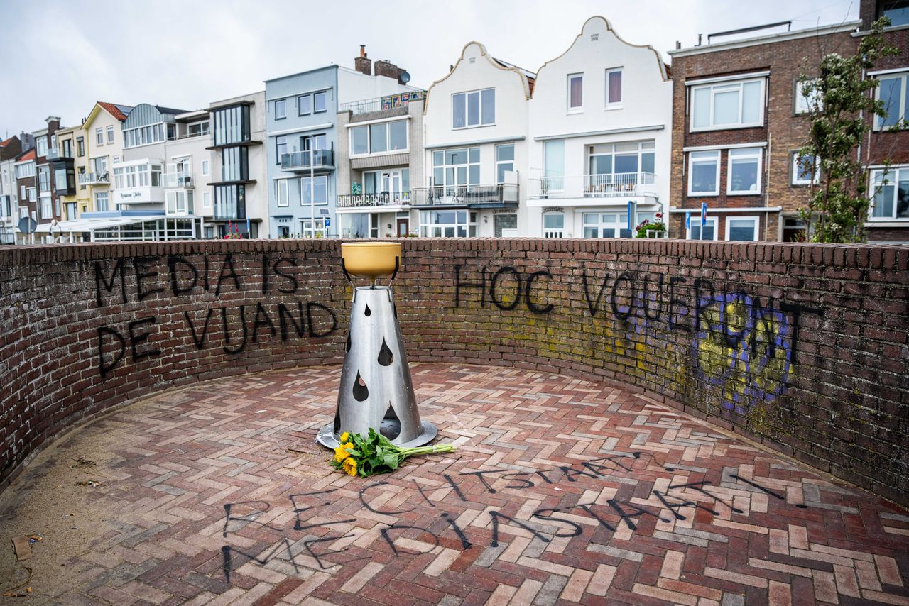
[[[412,204],[422,236],[526,233],[527,109],[534,74],[471,42],[426,92],[425,187]]]

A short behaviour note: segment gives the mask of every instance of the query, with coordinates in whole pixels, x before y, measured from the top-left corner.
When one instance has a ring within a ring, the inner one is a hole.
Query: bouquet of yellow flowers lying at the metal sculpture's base
[[[359,433],[342,433],[341,445],[335,448],[335,459],[331,464],[348,475],[368,478],[374,473],[394,472],[402,461],[413,454],[433,452],[454,452],[454,444],[401,448],[370,428],[366,437]]]

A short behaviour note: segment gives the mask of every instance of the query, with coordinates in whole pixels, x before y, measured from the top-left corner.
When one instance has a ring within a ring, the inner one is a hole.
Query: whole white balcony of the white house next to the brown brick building
[[[578,206],[620,204],[628,198],[647,204],[655,202],[656,175],[653,173],[582,174],[530,179],[531,206],[548,205],[547,200],[559,200]],[[619,198],[620,200],[611,200]]]

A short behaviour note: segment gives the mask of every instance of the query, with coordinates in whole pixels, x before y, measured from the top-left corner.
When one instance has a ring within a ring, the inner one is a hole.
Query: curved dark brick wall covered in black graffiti
[[[340,363],[336,241],[0,250],[0,486],[155,390]],[[412,362],[622,382],[909,503],[909,247],[405,240]]]

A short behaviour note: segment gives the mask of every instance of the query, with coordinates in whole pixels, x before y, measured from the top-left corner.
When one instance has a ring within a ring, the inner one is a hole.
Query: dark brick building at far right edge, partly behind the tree
[[[854,34],[856,40],[867,35],[876,19],[887,16],[891,23],[884,30],[884,40],[900,49],[899,55],[885,58],[869,72],[880,80],[875,94],[884,100],[887,116],[874,119],[868,142],[860,150],[869,168],[869,191],[874,194],[865,224],[867,238],[869,242],[909,242],[909,130],[888,131],[901,119],[909,119],[909,4],[863,0],[859,16],[862,30]],[[891,163],[888,169],[886,160]]]

